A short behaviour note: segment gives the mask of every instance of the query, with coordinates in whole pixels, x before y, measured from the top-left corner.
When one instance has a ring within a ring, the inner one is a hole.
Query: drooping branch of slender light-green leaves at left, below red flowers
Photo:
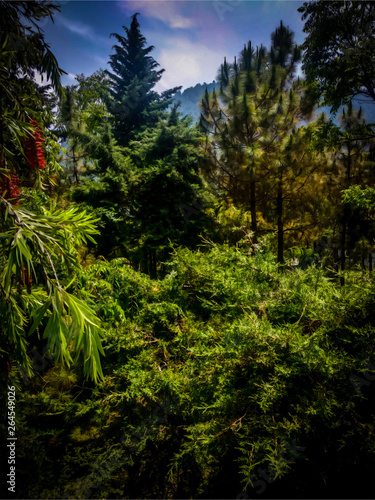
[[[48,350],[57,361],[69,366],[69,344],[74,343],[76,357],[83,347],[85,375],[97,380],[103,376],[98,319],[84,302],[66,291],[68,276],[64,279],[59,273],[65,282],[63,287],[56,271],[66,267],[72,273],[79,267],[76,247],[92,240],[91,235],[97,233],[95,221],[76,209],[35,217],[1,200],[5,209],[0,234],[3,341],[16,351],[16,360],[30,372],[27,336],[48,317],[43,328]]]

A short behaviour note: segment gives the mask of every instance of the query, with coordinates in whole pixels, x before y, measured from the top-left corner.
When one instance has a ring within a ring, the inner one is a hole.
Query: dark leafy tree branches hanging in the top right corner
[[[375,100],[374,4],[319,0],[298,11],[307,34],[302,69],[317,95],[334,111],[358,95]]]

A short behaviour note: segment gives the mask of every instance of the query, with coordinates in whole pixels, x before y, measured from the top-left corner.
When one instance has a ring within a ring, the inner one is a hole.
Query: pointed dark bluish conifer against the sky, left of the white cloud
[[[141,34],[136,13],[132,16],[130,28],[123,26],[126,36],[112,33],[118,45],[110,56],[112,71],[110,79],[108,109],[113,115],[114,137],[122,146],[134,139],[137,132],[155,125],[160,112],[172,102],[173,95],[181,87],[175,87],[158,94],[153,90],[162,77],[163,69],[150,53],[154,46],[146,46],[146,38]]]

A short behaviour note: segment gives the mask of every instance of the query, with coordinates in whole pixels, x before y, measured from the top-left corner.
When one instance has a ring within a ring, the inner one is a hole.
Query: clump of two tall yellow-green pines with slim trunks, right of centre
[[[287,177],[280,170],[281,157],[301,140],[292,141],[290,134],[296,123],[311,113],[312,103],[303,82],[294,82],[300,50],[293,42],[293,33],[281,22],[271,40],[269,53],[263,46],[254,50],[249,42],[239,63],[236,59],[232,65],[224,61],[219,73],[220,98],[215,92],[205,94],[200,124],[206,134],[206,176],[226,199],[250,211],[254,241],[260,232],[260,204],[263,221],[268,217],[263,230],[273,225],[272,211],[278,214],[278,255],[282,262],[282,187]],[[278,200],[276,207],[272,197]]]

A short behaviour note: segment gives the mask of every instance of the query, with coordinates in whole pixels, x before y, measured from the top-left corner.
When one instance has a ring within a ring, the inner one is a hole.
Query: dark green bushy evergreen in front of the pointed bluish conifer
[[[169,257],[171,243],[196,246],[207,222],[198,130],[190,127],[190,118],[180,118],[177,107],[129,146],[137,182],[127,218],[127,256],[153,277],[158,263]]]

